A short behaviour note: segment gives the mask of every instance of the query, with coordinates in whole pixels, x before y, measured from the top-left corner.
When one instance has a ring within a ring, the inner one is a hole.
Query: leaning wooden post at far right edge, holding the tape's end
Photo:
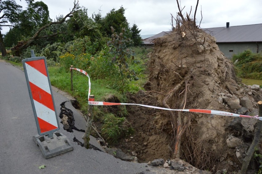
[[[262,117],[262,101],[258,101],[258,117]],[[254,138],[252,141],[252,144],[250,145],[247,155],[243,160],[243,164],[242,164],[242,168],[241,168],[241,174],[246,174],[247,173],[247,169],[248,169],[248,165],[249,162],[253,156],[253,153],[255,151],[255,147],[257,146],[259,140],[260,140],[260,136],[261,136],[261,130],[262,130],[262,121],[258,120],[256,125],[255,125],[255,130],[254,130]]]

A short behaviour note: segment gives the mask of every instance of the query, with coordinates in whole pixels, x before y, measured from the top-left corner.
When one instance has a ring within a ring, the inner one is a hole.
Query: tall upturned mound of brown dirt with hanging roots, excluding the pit
[[[248,95],[244,86],[238,85],[234,67],[216,45],[216,39],[201,29],[192,30],[191,25],[182,25],[155,40],[149,57],[150,75],[145,89],[157,97],[162,107],[235,113],[241,108],[242,97],[252,101],[249,111],[256,107],[254,94]],[[261,98],[258,92],[257,95]],[[173,137],[169,144],[173,158],[213,171],[241,167],[226,144],[228,135],[232,134],[228,125],[233,119],[200,113],[155,113],[155,125],[161,125],[163,134]],[[228,160],[232,165],[221,166]]]

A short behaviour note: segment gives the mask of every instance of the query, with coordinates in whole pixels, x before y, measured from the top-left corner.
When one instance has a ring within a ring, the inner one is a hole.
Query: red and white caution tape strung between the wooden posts
[[[236,113],[229,113],[224,111],[217,111],[217,110],[208,110],[208,109],[168,109],[168,108],[161,108],[157,106],[149,106],[149,105],[141,105],[141,104],[134,104],[134,103],[111,103],[111,102],[104,102],[104,101],[94,101],[94,98],[89,98],[90,92],[91,92],[91,82],[89,75],[81,69],[77,68],[70,68],[75,69],[77,71],[80,71],[81,73],[85,74],[89,79],[89,93],[88,93],[88,104],[89,105],[103,105],[103,106],[112,106],[112,105],[138,105],[138,106],[144,106],[148,108],[154,108],[154,109],[162,109],[162,110],[168,110],[168,111],[184,111],[184,112],[194,112],[194,113],[207,113],[207,114],[214,114],[214,115],[221,115],[221,116],[231,116],[231,117],[247,117],[247,118],[256,118],[258,120],[262,121],[262,117],[252,117],[249,115],[240,115]]]

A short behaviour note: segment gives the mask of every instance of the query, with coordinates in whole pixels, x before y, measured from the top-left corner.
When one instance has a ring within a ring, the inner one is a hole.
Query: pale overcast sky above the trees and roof
[[[35,0],[38,1],[38,0]],[[72,9],[74,0],[42,0],[49,9],[51,19],[55,19],[59,14],[66,15],[69,9]],[[20,2],[24,5],[24,0]],[[184,12],[194,14],[196,0],[181,0],[181,6]],[[123,6],[125,17],[130,26],[134,23],[141,29],[140,34],[157,34],[162,31],[171,30],[171,14],[176,16],[178,12],[176,0],[79,0],[80,6],[88,9],[88,15],[101,10],[102,16],[105,16],[110,10],[119,9]],[[262,23],[262,1],[261,0],[199,0],[196,19],[201,20],[201,28],[224,27],[226,22],[230,26],[249,25]],[[174,22],[175,23],[175,22]],[[6,27],[2,33],[5,33]]]

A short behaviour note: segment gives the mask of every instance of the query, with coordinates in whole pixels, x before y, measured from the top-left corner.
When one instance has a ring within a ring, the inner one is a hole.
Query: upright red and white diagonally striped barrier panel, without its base
[[[58,121],[44,59],[23,61],[36,123],[40,134],[57,130]]]

